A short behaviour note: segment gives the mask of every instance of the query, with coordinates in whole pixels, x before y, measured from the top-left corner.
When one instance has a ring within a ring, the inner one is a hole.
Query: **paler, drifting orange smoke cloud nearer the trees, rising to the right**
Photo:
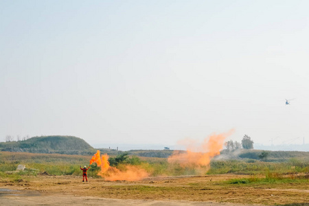
[[[229,130],[228,133],[213,134],[203,140],[201,146],[196,146],[197,142],[192,139],[180,141],[180,144],[187,146],[186,152],[175,151],[168,158],[168,162],[178,162],[180,165],[209,165],[211,158],[220,155],[225,139],[231,135],[234,130]]]

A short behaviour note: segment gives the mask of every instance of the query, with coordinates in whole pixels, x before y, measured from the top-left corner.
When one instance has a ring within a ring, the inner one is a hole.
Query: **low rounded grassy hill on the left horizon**
[[[72,136],[32,137],[24,141],[0,143],[1,151],[91,155],[95,151],[84,139]]]

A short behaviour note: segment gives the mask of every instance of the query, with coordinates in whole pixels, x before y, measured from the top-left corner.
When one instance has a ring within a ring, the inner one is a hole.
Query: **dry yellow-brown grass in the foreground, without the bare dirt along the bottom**
[[[154,177],[143,181],[103,181],[81,176],[29,176],[27,181],[2,179],[0,187],[36,190],[46,195],[67,194],[119,199],[150,199],[176,201],[211,201],[285,205],[309,203],[308,182],[233,185],[230,179],[249,176],[220,174],[209,176]]]

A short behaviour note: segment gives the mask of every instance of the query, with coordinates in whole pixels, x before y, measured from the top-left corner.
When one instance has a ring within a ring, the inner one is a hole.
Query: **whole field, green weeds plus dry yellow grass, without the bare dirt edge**
[[[117,156],[111,156],[113,158]],[[196,167],[168,163],[166,158],[130,156],[123,165],[139,165],[150,176],[141,181],[105,181],[95,165],[89,170],[91,185],[80,188],[79,165],[91,156],[0,152],[0,187],[28,188],[54,195],[60,191],[83,196],[150,200],[214,201],[264,205],[306,205],[309,162],[304,157],[286,161],[255,159],[212,160]],[[12,173],[17,165],[27,170]],[[275,197],[275,198],[274,198]]]

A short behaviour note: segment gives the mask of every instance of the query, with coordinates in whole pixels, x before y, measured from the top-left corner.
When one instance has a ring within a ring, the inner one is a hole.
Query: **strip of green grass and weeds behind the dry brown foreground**
[[[116,156],[112,156],[116,157]],[[52,175],[80,175],[79,165],[89,165],[91,156],[59,155],[59,154],[33,154],[26,152],[0,152],[0,175],[10,176],[5,172],[14,171],[17,165],[23,164],[27,168],[19,174],[36,175],[47,172]],[[206,175],[206,174],[297,174],[309,172],[309,161],[301,156],[293,157],[283,162],[245,160],[213,160],[209,166],[187,165],[182,167],[179,163],[168,163],[166,158],[131,156],[122,164],[135,164],[150,173],[150,176],[179,176],[179,175]],[[98,169],[91,165],[89,176],[97,177]],[[268,175],[269,176],[269,175]]]

